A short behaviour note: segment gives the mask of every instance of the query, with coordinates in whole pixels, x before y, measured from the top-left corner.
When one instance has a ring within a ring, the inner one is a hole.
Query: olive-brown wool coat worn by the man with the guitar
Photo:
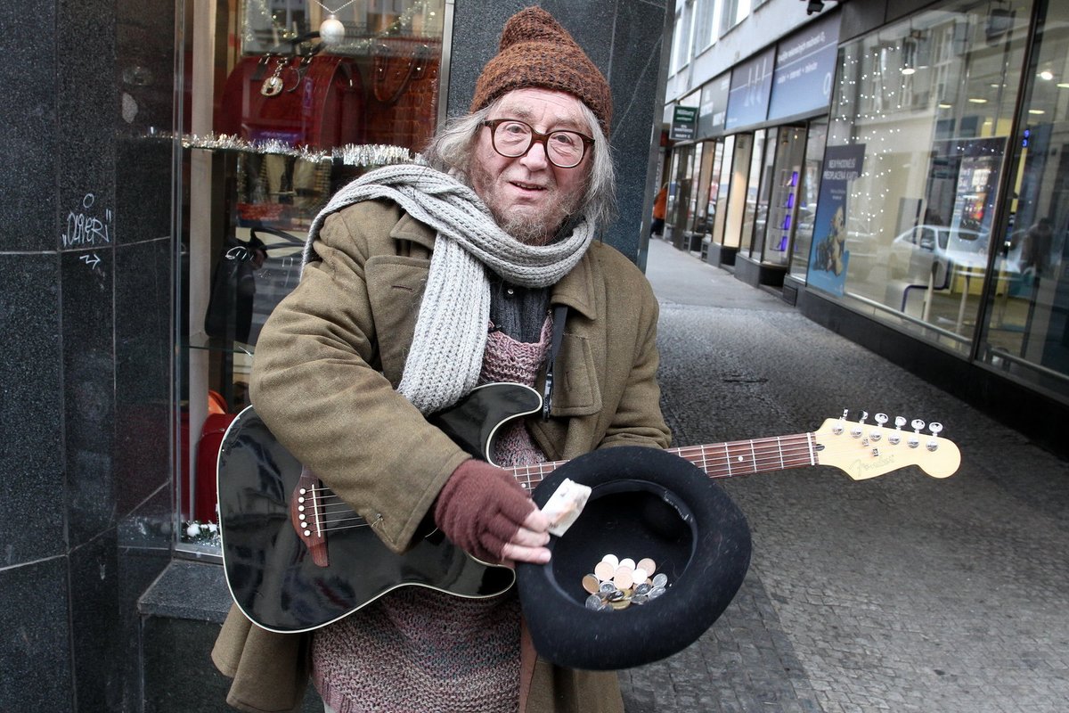
[[[315,244],[320,260],[273,312],[253,360],[252,402],[264,422],[399,553],[467,458],[394,390],[433,245],[433,232],[392,203],[359,203],[329,217]],[[553,418],[530,421],[538,445],[551,460],[608,446],[666,447],[657,304],[645,276],[595,243],[551,300],[568,305],[569,316]],[[228,702],[299,709],[307,638],[263,631],[232,608],[212,651],[234,679]],[[614,672],[555,667],[536,657],[527,637],[522,669],[525,713],[578,713],[580,701],[583,713],[622,710]]]

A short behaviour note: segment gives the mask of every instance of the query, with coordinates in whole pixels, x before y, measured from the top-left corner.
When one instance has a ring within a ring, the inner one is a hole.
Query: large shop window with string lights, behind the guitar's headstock
[[[996,217],[1031,14],[946,2],[840,47],[810,286],[963,355],[987,290],[1016,309]]]

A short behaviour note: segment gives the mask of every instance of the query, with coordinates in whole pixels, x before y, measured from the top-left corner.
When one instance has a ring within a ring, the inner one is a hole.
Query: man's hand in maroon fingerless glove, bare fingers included
[[[549,521],[501,468],[462,463],[434,506],[434,522],[453,544],[484,562],[549,561]]]

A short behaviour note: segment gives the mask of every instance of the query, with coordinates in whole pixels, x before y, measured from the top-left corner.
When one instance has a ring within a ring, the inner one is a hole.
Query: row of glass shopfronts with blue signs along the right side
[[[676,6],[663,237],[1066,452],[1069,7]]]

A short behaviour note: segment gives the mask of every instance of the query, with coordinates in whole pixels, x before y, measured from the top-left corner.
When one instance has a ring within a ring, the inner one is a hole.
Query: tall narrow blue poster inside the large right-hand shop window
[[[824,150],[807,283],[840,297],[846,290],[847,270],[850,267],[850,249],[847,244],[850,206],[847,204],[847,197],[850,195],[850,182],[862,173],[864,160],[864,143],[828,146]]]

